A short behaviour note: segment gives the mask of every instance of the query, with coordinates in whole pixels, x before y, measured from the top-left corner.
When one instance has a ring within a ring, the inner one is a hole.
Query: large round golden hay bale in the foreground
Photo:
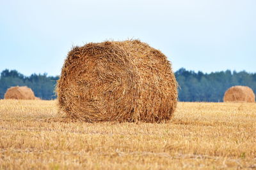
[[[56,92],[60,112],[86,122],[164,122],[177,106],[170,62],[138,40],[74,47]]]

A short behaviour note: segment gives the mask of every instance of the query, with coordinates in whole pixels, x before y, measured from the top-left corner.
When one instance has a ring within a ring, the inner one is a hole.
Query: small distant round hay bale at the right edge
[[[253,103],[255,102],[255,94],[250,87],[246,86],[234,86],[230,87],[225,92],[223,97],[224,102],[248,102]]]

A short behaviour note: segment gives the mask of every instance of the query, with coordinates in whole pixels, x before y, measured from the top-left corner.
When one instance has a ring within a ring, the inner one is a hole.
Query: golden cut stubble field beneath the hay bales
[[[61,122],[0,100],[0,169],[256,168],[255,103],[179,103],[169,124]]]

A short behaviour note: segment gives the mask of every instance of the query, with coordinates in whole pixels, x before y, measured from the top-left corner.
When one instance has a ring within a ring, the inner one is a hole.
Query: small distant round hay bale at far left
[[[24,99],[24,100],[34,100],[34,92],[24,86],[24,87],[10,87],[4,94],[4,99]]]

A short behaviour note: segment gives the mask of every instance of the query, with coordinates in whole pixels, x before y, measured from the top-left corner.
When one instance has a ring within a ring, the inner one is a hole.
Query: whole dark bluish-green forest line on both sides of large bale
[[[179,101],[207,101],[221,102],[225,91],[234,85],[246,85],[256,92],[256,73],[246,71],[220,71],[202,73],[187,71],[184,68],[175,72],[179,83]],[[24,76],[16,70],[2,71],[0,76],[0,99],[3,99],[6,90],[12,86],[28,86],[36,97],[41,99],[55,99],[54,92],[58,76],[47,74],[31,74]]]

